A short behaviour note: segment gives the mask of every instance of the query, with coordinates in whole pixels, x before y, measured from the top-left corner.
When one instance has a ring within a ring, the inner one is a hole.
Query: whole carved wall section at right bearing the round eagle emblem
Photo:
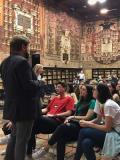
[[[101,64],[111,64],[120,60],[119,20],[87,23],[81,43],[81,53],[86,53],[85,61],[93,58]]]

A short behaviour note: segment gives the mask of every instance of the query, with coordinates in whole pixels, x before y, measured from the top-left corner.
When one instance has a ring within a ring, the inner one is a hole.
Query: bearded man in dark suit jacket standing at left
[[[41,86],[30,67],[29,40],[15,36],[10,42],[10,56],[0,67],[5,90],[3,118],[13,123],[5,160],[24,160],[26,146],[38,110],[37,93]]]

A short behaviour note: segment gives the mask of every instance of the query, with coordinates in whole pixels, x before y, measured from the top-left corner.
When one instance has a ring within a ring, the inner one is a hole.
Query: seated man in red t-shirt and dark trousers
[[[35,120],[27,148],[27,155],[29,158],[32,157],[35,135],[38,133],[53,133],[57,126],[64,122],[65,117],[72,114],[74,100],[67,95],[66,90],[67,85],[64,82],[58,82],[56,87],[58,96],[55,96],[51,100],[47,108],[42,109],[42,113],[45,115]]]

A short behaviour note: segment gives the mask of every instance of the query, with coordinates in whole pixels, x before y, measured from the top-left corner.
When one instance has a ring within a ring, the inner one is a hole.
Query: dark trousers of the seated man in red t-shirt
[[[36,119],[33,125],[32,133],[30,140],[28,142],[28,147],[27,147],[27,154],[31,155],[32,154],[32,149],[35,148],[35,135],[39,133],[43,134],[50,134],[55,131],[58,125],[60,125],[61,122],[56,120],[55,118],[52,117],[44,117],[41,116],[39,119]]]

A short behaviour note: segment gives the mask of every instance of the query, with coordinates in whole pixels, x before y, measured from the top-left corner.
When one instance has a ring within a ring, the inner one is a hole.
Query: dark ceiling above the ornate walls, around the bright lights
[[[45,0],[46,6],[55,7],[83,20],[96,20],[120,17],[120,0],[107,0],[104,4],[89,6],[87,0]],[[107,15],[101,15],[100,9],[108,8]]]

